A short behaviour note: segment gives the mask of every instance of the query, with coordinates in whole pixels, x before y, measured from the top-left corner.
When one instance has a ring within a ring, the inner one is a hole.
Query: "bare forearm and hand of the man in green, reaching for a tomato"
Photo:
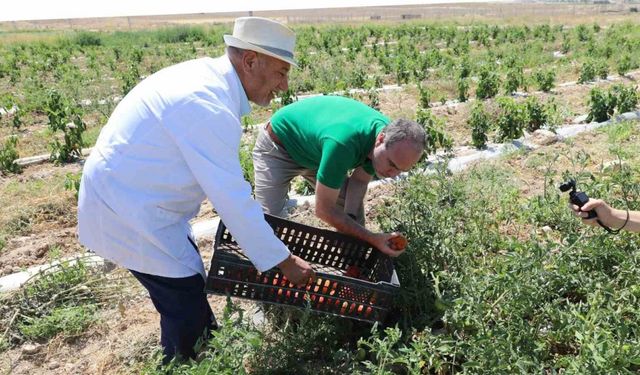
[[[373,233],[358,224],[336,205],[339,194],[340,190],[316,182],[316,216],[339,232],[366,241],[389,256],[396,257],[402,254],[402,251],[389,247],[389,240],[399,233]]]

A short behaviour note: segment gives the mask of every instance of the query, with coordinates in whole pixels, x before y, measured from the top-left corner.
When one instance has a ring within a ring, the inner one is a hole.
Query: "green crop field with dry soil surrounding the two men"
[[[0,372],[640,372],[640,239],[582,225],[557,188],[574,178],[590,196],[640,209],[637,123],[447,170],[470,150],[638,111],[636,18],[295,25],[289,91],[242,121],[247,179],[254,125],[308,95],[354,97],[430,135],[420,168],[367,197],[369,225],[409,239],[388,321],[276,309],[257,323],[255,304],[211,296],[222,328],[197,361],[163,367],[144,290],[124,270],[78,262],[0,295]],[[84,253],[82,149],[138,82],[222,54],[230,31],[0,32],[0,277]],[[17,162],[41,154],[47,162]],[[195,221],[213,217],[205,203]],[[322,225],[309,207],[292,219]],[[198,244],[208,264],[212,238]]]

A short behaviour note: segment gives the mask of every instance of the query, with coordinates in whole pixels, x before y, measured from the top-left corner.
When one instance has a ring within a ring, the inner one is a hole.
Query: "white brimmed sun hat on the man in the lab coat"
[[[225,35],[230,47],[264,53],[298,66],[293,59],[296,34],[285,25],[262,17],[240,17],[233,25],[233,35]]]

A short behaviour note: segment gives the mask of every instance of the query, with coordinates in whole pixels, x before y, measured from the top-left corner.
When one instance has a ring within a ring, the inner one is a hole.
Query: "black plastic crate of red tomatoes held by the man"
[[[291,253],[313,267],[317,276],[313,285],[298,288],[277,267],[258,272],[220,222],[205,287],[208,293],[309,306],[313,311],[368,322],[385,319],[400,286],[389,256],[341,233],[271,215],[265,218]]]

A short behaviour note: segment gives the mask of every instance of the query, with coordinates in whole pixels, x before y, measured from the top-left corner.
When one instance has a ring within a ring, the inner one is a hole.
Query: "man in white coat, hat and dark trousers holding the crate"
[[[260,271],[303,285],[314,272],[264,221],[239,161],[240,118],[288,88],[294,33],[259,17],[236,20],[227,53],[149,76],[118,104],[87,159],[80,242],[125,267],[160,313],[165,362],[195,356],[216,328],[191,220],[208,198]]]

